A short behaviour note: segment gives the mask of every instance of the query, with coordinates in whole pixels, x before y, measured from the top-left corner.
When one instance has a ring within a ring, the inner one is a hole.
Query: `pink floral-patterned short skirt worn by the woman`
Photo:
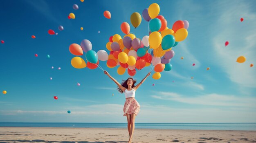
[[[135,113],[136,116],[139,113],[140,105],[135,98],[126,98],[124,103],[124,115]]]

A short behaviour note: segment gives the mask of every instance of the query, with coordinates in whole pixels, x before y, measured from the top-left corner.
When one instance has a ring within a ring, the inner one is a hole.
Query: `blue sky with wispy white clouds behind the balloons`
[[[159,80],[148,77],[137,90],[141,110],[136,122],[256,122],[256,69],[250,68],[256,62],[254,0],[2,0],[0,121],[125,123],[124,94],[115,90],[116,84],[101,69],[73,68],[74,55],[68,48],[88,39],[92,50],[108,51],[110,36],[124,37],[121,23],[128,22],[134,32],[130,15],[142,15],[152,3],[159,4],[159,14],[169,28],[177,20],[188,20],[189,35],[173,48],[172,70],[162,72]],[[72,9],[73,4],[79,9]],[[103,16],[105,10],[111,19]],[[76,18],[69,20],[71,12]],[[58,35],[49,35],[49,29]],[[144,35],[148,35],[148,24],[142,19],[136,37]],[[236,58],[241,55],[247,60],[238,64]],[[106,61],[100,65],[119,82],[129,77],[127,72],[118,75],[117,68],[108,68]],[[137,71],[134,78],[141,81],[149,70]]]

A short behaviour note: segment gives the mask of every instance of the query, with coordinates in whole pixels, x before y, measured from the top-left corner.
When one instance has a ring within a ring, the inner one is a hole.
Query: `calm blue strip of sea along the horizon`
[[[0,122],[0,127],[127,128],[127,124]],[[135,127],[179,130],[256,130],[256,123],[135,123]]]

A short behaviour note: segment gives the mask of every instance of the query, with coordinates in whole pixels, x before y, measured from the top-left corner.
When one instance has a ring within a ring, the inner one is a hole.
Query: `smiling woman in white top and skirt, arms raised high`
[[[141,84],[143,84],[146,78],[150,75],[150,72],[146,75],[146,77],[144,77],[144,79],[140,81],[139,84],[137,84],[137,86],[134,86],[136,80],[134,80],[131,77],[126,79],[126,81],[123,80],[123,82],[119,84],[119,82],[113,77],[111,77],[111,75],[106,70],[104,71],[104,73],[108,75],[108,77],[110,77],[110,79],[112,79],[112,81],[114,81],[117,84],[117,86],[119,87],[117,88],[117,90],[121,93],[124,92],[124,95],[126,97],[126,101],[124,103],[123,116],[127,117],[127,127],[130,136],[128,143],[131,143],[132,134],[135,128],[135,116],[137,116],[140,109],[139,103],[135,99],[135,91],[139,88],[139,86],[141,86]]]

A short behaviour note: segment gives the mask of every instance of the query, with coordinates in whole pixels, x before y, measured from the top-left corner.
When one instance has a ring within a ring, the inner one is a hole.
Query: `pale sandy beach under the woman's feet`
[[[0,127],[0,143],[126,143],[123,128]],[[135,129],[133,143],[256,143],[256,131]]]

